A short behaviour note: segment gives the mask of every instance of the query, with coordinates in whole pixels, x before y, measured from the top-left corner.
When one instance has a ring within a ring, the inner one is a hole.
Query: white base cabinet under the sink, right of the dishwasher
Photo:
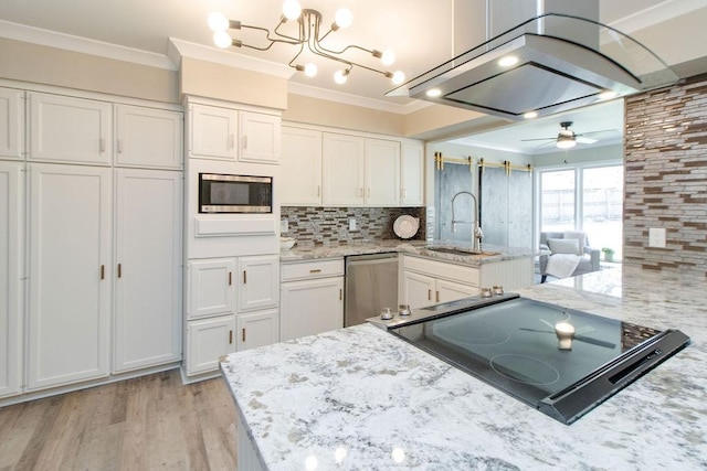
[[[476,296],[478,269],[403,256],[402,299],[412,309]]]

